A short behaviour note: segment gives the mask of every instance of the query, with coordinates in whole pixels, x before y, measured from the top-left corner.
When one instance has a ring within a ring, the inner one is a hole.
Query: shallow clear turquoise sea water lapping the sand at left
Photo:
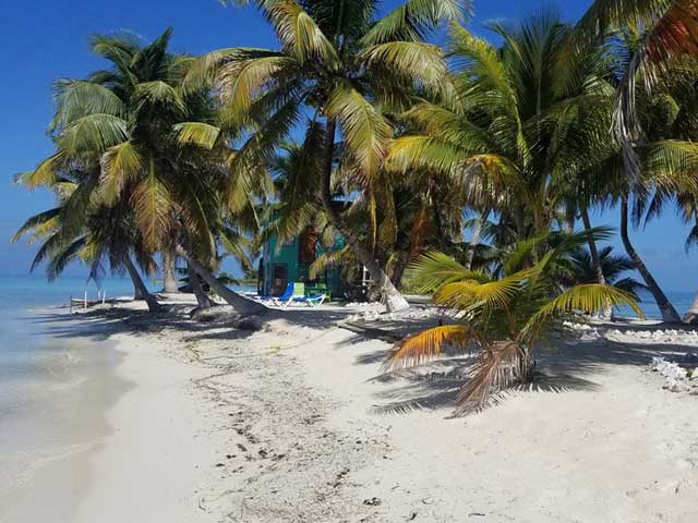
[[[127,280],[101,287],[107,296],[133,292]],[[70,521],[88,474],[71,460],[109,433],[104,412],[128,386],[113,372],[120,356],[109,342],[75,337],[56,314],[64,309],[35,311],[65,305],[85,290],[97,297],[96,284],[84,279],[0,277],[3,523]]]

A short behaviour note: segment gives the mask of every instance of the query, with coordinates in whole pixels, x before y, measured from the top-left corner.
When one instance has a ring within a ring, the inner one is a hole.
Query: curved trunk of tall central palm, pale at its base
[[[380,290],[383,299],[385,300],[385,306],[388,312],[407,311],[410,308],[409,303],[402,296],[400,291],[393,284],[390,278],[386,275],[385,270],[373,257],[371,248],[369,248],[349,226],[341,218],[339,212],[333,207],[332,198],[332,163],[335,154],[335,132],[337,130],[337,122],[334,119],[327,119],[327,144],[325,150],[324,166],[322,172],[321,182],[321,197],[323,207],[327,212],[327,217],[332,224],[342,234],[347,243],[351,246],[353,254],[359,258],[359,262],[363,264],[371,279],[376,288]]]

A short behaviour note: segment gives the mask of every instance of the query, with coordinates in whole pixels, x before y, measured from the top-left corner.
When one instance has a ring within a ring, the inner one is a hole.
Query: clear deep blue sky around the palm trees
[[[386,0],[389,9],[399,3]],[[490,19],[515,20],[542,4],[557,7],[576,20],[590,0],[476,0],[478,31]],[[51,82],[81,77],[100,62],[88,52],[93,33],[131,31],[151,40],[167,26],[174,28],[174,51],[203,53],[234,46],[273,47],[274,35],[251,8],[224,8],[217,0],[35,0],[29,4],[0,0],[0,275],[28,271],[35,247],[11,245],[10,236],[23,219],[51,206],[44,192],[26,193],[12,177],[32,169],[51,153],[45,129],[51,119]],[[594,223],[618,223],[617,212],[597,216]],[[667,290],[693,290],[698,273],[691,270],[698,253],[687,256],[687,228],[667,211],[643,231],[634,232],[636,247]],[[619,242],[618,242],[619,245]],[[621,247],[618,246],[618,250]],[[71,273],[81,273],[72,268]]]

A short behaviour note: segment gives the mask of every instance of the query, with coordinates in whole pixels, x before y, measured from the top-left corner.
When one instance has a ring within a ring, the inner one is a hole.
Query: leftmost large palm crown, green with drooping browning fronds
[[[62,212],[69,236],[83,226],[88,200],[107,207],[125,203],[147,252],[177,247],[190,260],[194,255],[210,259],[228,150],[225,137],[208,123],[217,118],[209,93],[181,88],[193,59],[169,53],[170,37],[167,29],[147,46],[127,36],[93,37],[93,51],[111,68],[57,83],[50,126],[57,151],[24,180],[29,186],[51,186],[62,173],[81,169],[74,203]],[[197,144],[202,133],[208,137],[207,153],[190,144],[193,133],[198,133]],[[206,265],[195,267],[206,271]],[[266,309],[229,290],[219,294],[241,314]]]

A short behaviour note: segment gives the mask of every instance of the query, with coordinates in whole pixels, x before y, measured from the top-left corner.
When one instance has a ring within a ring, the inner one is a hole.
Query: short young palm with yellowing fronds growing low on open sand
[[[484,409],[513,385],[531,381],[538,343],[562,319],[583,320],[581,314],[601,312],[607,304],[628,305],[641,316],[630,294],[610,285],[583,283],[557,291],[558,266],[586,241],[583,232],[568,235],[528,268],[524,260],[537,241],[521,242],[504,259],[501,278],[468,270],[442,253],[422,256],[413,268],[422,291],[433,292],[434,302],[460,321],[404,339],[386,369],[419,365],[446,348],[474,351],[477,360],[456,400],[456,414],[464,415]]]

